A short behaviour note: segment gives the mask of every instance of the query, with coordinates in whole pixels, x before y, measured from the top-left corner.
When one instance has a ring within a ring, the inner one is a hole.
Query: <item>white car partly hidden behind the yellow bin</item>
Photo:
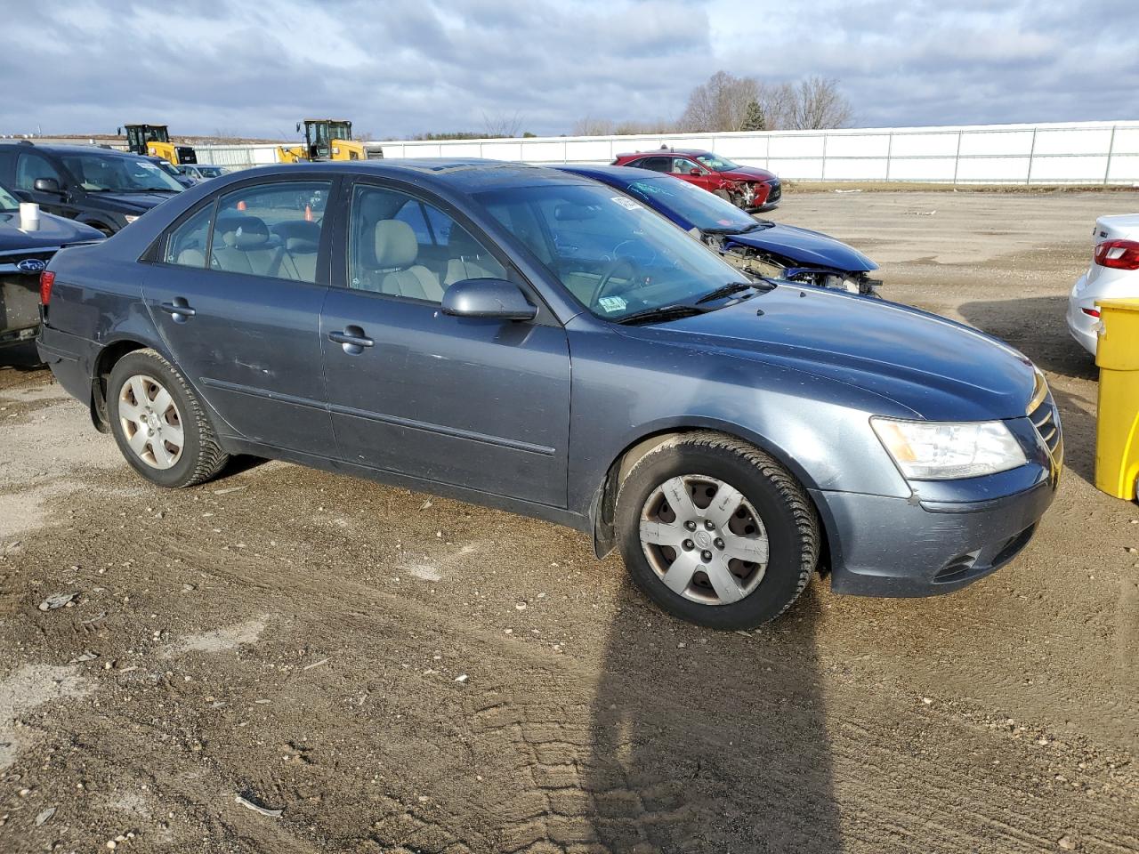
[[[1139,297],[1139,214],[1100,216],[1091,232],[1091,266],[1068,297],[1068,331],[1092,355],[1099,340],[1097,299]]]

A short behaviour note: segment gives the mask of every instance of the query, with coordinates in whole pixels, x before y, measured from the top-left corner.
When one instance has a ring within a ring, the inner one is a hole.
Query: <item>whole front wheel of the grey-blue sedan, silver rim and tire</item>
[[[621,553],[657,605],[712,629],[753,629],[798,598],[819,556],[819,520],[787,469],[719,433],[669,440],[617,493]]]

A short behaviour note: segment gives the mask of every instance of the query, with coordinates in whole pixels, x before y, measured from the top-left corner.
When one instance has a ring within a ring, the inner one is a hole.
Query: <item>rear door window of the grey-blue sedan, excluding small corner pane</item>
[[[222,196],[210,268],[314,284],[330,190],[329,181],[273,181]]]

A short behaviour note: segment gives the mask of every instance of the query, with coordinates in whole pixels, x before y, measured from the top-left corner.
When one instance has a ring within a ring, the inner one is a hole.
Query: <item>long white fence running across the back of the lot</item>
[[[384,156],[609,163],[625,151],[706,148],[792,181],[1139,184],[1139,122],[383,141]],[[273,146],[203,146],[203,163],[277,161]]]

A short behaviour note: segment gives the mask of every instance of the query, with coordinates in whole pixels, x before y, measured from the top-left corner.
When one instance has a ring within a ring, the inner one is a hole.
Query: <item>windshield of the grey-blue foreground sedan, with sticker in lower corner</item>
[[[611,187],[546,183],[475,198],[606,320],[695,304],[741,278],[700,243]]]

